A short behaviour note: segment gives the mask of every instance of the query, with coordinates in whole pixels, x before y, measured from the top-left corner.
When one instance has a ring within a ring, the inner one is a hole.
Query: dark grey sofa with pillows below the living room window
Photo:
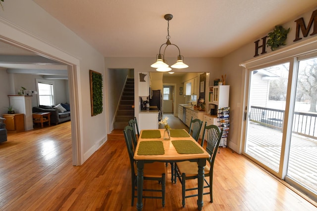
[[[60,106],[64,109],[60,110]],[[59,108],[58,108],[59,107]],[[51,124],[57,125],[66,121],[70,121],[70,108],[69,104],[60,103],[56,106],[45,106],[39,105],[38,107],[33,107],[32,112],[50,112],[51,113]]]

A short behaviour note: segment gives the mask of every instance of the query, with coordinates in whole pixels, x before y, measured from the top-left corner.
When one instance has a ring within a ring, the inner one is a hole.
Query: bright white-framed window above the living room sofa
[[[38,94],[40,105],[54,105],[53,83],[38,81]]]

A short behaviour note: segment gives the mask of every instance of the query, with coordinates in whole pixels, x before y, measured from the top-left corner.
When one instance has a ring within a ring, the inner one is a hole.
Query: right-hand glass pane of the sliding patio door
[[[300,60],[287,178],[317,193],[317,57]],[[287,179],[286,179],[287,180]],[[310,193],[312,195],[312,193]]]

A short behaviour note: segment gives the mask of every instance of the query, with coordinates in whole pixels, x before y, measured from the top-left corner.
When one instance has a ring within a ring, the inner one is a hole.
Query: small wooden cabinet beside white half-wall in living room
[[[24,131],[24,114],[3,114],[8,132]]]

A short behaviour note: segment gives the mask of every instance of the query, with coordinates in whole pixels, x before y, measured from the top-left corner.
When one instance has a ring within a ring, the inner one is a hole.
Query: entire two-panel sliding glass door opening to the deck
[[[244,154],[317,200],[317,57],[249,71]]]

